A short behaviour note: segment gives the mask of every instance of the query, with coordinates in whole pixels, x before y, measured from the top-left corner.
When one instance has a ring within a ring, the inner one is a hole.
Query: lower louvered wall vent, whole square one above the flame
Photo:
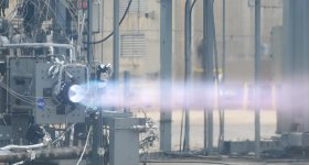
[[[125,34],[120,37],[122,57],[145,56],[145,34]]]

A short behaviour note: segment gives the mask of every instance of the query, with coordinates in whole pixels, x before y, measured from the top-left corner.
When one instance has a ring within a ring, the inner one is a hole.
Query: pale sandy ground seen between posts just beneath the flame
[[[214,146],[217,145],[219,139],[219,112],[215,110],[213,140]],[[181,111],[173,111],[172,113],[172,150],[179,151],[180,132],[181,132]],[[142,113],[137,113],[137,117],[143,117]],[[159,124],[160,112],[157,110],[148,110],[147,117],[152,118]],[[260,136],[269,139],[276,135],[277,116],[274,110],[260,111]],[[200,150],[204,146],[204,112],[201,110],[192,110],[190,112],[190,148]],[[254,140],[254,111],[252,110],[226,110],[225,111],[225,141],[243,141]],[[150,148],[151,152],[159,151],[159,142]]]

